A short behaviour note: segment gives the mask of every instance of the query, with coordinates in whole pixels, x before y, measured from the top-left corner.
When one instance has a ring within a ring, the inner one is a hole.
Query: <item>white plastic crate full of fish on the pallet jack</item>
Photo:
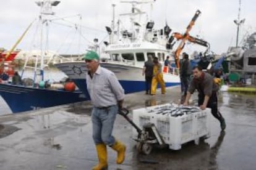
[[[181,116],[164,114],[170,108],[177,107],[171,103],[133,110],[133,121],[141,129],[143,124],[154,123],[164,142],[170,149],[179,150],[181,145],[194,140],[198,144],[200,137],[210,137],[211,110],[198,110]],[[162,113],[161,113],[161,112]],[[132,137],[137,139],[137,131],[133,129]]]

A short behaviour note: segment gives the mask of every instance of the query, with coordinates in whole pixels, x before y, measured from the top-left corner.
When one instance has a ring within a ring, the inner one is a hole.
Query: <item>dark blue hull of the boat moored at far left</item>
[[[80,91],[39,89],[11,84],[0,84],[0,95],[13,113],[88,100]]]

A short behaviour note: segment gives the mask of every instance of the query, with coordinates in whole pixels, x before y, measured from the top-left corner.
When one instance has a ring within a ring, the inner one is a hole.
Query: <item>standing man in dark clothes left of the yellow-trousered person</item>
[[[142,76],[145,75],[145,86],[146,94],[151,94],[151,82],[153,78],[153,67],[152,55],[148,55],[147,62],[144,63]]]

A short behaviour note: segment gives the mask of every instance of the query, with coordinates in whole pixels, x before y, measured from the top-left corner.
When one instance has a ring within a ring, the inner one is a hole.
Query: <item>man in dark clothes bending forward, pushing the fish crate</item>
[[[183,105],[189,104],[189,99],[191,95],[198,91],[198,106],[205,110],[205,108],[211,108],[211,114],[220,121],[221,129],[226,128],[225,119],[218,111],[218,85],[213,82],[213,77],[202,71],[200,66],[193,68],[194,78],[192,79],[189,89],[187,91],[186,100]]]

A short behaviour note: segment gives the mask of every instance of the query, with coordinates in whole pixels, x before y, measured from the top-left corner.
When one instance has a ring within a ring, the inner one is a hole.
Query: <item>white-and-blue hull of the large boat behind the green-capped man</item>
[[[100,63],[100,65],[101,67],[107,68],[116,74],[117,79],[124,88],[126,94],[145,91],[145,76],[142,76],[143,68],[107,62]],[[85,74],[87,73],[85,62],[58,63],[56,64],[56,67],[63,71],[70,79],[72,79],[83,94],[88,96],[85,79]],[[179,86],[180,84],[178,75],[163,73],[163,78],[166,87]]]

